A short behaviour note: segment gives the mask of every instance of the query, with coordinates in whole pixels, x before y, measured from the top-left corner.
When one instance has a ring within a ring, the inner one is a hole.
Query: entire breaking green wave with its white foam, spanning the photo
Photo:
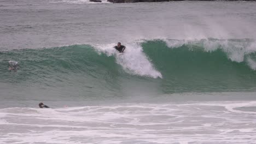
[[[253,44],[247,39],[150,40],[127,44],[122,56],[90,45],[5,51],[0,52],[0,82],[106,97],[254,91]],[[20,69],[8,70],[9,61]]]

